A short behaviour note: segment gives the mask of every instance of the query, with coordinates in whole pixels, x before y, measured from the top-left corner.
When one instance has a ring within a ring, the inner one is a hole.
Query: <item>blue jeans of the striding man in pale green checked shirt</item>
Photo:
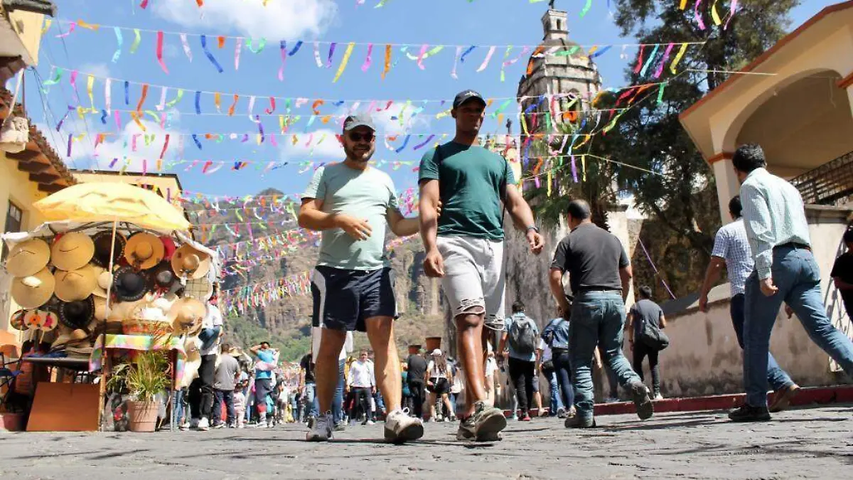
[[[853,342],[838,331],[827,317],[821,296],[821,272],[808,249],[777,247],[771,267],[773,283],[779,289],[764,296],[757,272],[746,279],[746,321],[744,322],[744,387],[746,403],[767,406],[770,333],[776,315],[786,302],[812,341],[853,374]]]

